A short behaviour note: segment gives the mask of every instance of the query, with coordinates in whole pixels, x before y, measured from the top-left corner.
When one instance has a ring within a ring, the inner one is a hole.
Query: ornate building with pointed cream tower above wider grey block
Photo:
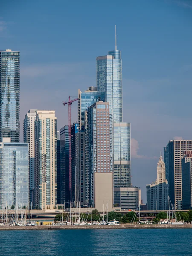
[[[169,184],[166,180],[166,169],[163,158],[160,155],[157,163],[157,180],[147,185],[147,208],[148,210],[167,210]]]

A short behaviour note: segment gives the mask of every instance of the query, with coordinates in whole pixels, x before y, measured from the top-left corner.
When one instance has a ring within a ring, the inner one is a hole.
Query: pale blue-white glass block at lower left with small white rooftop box
[[[0,143],[0,209],[29,206],[28,143]]]

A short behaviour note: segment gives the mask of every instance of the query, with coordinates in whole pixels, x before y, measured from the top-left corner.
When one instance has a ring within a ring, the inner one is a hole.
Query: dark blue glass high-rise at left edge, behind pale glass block
[[[0,51],[0,141],[19,142],[20,57],[18,51]]]

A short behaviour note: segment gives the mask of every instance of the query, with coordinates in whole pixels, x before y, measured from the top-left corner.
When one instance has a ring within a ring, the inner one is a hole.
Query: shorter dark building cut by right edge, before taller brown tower
[[[182,209],[192,209],[192,151],[184,151],[182,168]]]

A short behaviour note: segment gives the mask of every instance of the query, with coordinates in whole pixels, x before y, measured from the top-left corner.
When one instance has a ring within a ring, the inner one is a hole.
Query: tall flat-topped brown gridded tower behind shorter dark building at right
[[[177,209],[182,209],[182,172],[183,151],[192,150],[192,140],[170,140],[169,154],[169,197]]]

